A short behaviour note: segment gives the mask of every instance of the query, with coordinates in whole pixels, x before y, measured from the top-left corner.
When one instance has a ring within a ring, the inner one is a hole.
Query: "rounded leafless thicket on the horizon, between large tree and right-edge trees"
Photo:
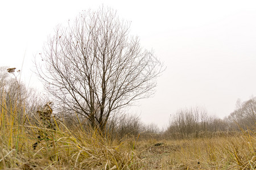
[[[197,107],[176,112],[164,135],[177,139],[212,137],[217,131],[226,131],[227,128],[226,121],[210,116],[205,109]]]

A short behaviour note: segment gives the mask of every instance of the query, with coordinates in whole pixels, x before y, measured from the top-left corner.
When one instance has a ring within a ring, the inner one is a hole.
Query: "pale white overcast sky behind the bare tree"
[[[102,4],[130,20],[131,34],[167,66],[154,97],[132,109],[143,122],[163,127],[170,114],[196,106],[224,117],[238,98],[255,96],[256,1],[1,1],[0,66],[21,69],[24,61],[23,81],[40,87],[32,59],[47,36]]]

